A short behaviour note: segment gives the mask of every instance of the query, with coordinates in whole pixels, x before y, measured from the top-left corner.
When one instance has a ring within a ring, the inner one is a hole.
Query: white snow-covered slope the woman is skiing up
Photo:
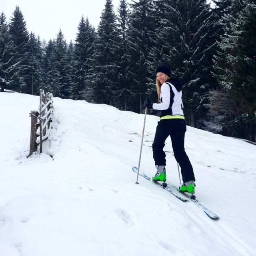
[[[43,153],[29,152],[39,97],[0,93],[1,256],[256,255],[256,145],[187,127],[185,149],[208,218],[139,177],[144,115],[54,98]],[[141,171],[155,174],[147,116]],[[167,139],[167,182],[179,185]]]

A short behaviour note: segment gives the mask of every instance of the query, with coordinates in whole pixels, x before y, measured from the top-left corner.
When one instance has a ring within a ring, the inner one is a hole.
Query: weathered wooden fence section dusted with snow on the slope
[[[30,132],[30,150],[29,155],[37,151],[40,145],[40,153],[43,150],[43,141],[48,139],[50,134],[53,110],[53,97],[52,93],[44,93],[40,89],[40,103],[39,112],[31,111],[31,132]],[[39,139],[37,139],[39,138]]]

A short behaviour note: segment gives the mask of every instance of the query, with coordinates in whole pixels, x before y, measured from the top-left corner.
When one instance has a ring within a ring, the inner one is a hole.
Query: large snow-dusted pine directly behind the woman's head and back
[[[184,82],[185,115],[195,127],[199,108],[209,90],[214,39],[210,5],[206,0],[159,0],[159,27],[152,63],[165,63]],[[152,64],[151,64],[152,65]]]

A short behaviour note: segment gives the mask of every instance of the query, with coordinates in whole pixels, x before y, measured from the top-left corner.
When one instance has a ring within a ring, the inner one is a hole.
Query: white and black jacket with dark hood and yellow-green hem
[[[170,78],[163,83],[160,94],[161,103],[154,103],[152,106],[155,110],[161,110],[160,119],[184,119],[181,89],[182,83],[176,78]]]

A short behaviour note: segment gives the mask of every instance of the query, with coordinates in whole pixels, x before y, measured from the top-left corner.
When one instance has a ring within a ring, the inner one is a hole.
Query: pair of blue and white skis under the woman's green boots
[[[134,171],[136,174],[138,174],[138,168],[137,167],[132,167],[132,171]],[[143,173],[139,173],[139,176],[145,178],[146,180],[150,180],[152,181],[152,178],[150,178],[149,176],[143,174]],[[217,220],[219,219],[219,216],[217,216],[215,213],[213,213],[211,210],[209,210],[208,208],[206,208],[204,205],[202,205],[195,197],[191,198],[190,195],[187,195],[186,193],[182,193],[179,191],[179,189],[174,186],[173,184],[167,184],[166,187],[163,187],[160,183],[158,182],[154,182],[155,184],[157,184],[158,186],[161,186],[163,189],[169,191],[172,195],[174,195],[175,197],[177,197],[178,199],[180,199],[182,202],[186,202],[186,201],[191,201],[193,203],[195,203],[200,209],[202,209],[204,211],[204,213],[210,218],[210,219],[214,219]],[[177,193],[176,193],[177,191]],[[180,195],[179,195],[180,194]]]

